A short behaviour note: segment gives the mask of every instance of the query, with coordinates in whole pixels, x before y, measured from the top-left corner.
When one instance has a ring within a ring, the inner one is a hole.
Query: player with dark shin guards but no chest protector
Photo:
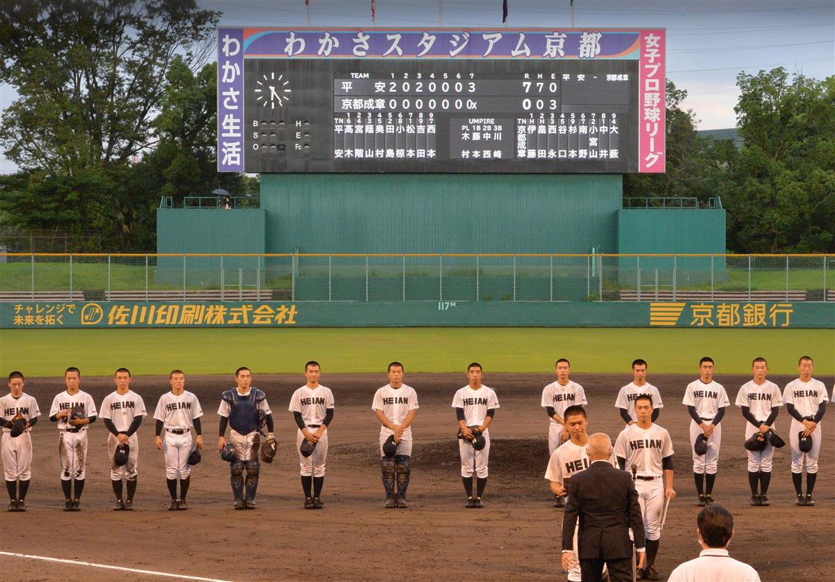
[[[386,489],[386,508],[406,508],[406,490],[412,476],[412,421],[419,408],[417,392],[403,383],[403,365],[388,365],[388,383],[374,393],[372,410],[380,425],[380,463],[382,486]],[[397,451],[387,457],[382,445],[393,435]],[[395,488],[397,482],[397,488]]]

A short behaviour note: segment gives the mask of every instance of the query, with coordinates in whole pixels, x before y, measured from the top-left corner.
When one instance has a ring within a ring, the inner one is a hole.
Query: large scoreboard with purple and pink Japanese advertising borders
[[[663,29],[220,28],[218,171],[665,168]]]

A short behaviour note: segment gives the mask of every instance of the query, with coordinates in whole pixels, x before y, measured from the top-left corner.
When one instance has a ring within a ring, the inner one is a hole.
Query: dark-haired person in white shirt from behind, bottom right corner
[[[674,569],[668,582],[760,582],[756,569],[728,554],[734,534],[730,511],[708,505],[699,512],[696,524],[701,554]]]

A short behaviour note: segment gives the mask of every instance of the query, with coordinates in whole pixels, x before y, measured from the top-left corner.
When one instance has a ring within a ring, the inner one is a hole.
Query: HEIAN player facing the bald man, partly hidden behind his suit
[[[565,428],[569,431],[569,440],[551,453],[548,468],[545,470],[545,478],[550,482],[551,493],[559,498],[565,498],[568,495],[571,477],[589,468],[589,423],[585,410],[579,404],[575,404],[565,408],[563,412]],[[614,449],[609,460],[613,467],[617,467]],[[568,570],[570,582],[580,582],[582,579],[577,556],[578,532],[579,523],[574,528],[574,549],[571,551],[571,567]],[[604,573],[606,571],[605,565],[603,571]]]

